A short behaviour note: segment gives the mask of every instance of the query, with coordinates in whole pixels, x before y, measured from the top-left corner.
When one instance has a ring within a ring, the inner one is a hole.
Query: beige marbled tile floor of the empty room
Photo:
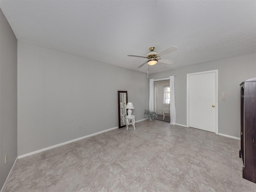
[[[153,120],[18,159],[4,192],[255,192],[240,141]]]

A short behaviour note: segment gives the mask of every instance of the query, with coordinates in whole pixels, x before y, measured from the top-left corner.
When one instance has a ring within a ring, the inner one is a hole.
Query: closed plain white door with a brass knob
[[[218,71],[188,74],[189,126],[218,133]],[[216,86],[217,83],[217,86]],[[216,116],[217,114],[217,116]]]

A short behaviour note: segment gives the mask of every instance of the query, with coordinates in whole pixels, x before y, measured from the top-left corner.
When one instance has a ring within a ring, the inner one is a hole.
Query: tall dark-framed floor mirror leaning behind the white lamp
[[[126,104],[127,91],[118,91],[118,126],[119,128],[126,126]]]

